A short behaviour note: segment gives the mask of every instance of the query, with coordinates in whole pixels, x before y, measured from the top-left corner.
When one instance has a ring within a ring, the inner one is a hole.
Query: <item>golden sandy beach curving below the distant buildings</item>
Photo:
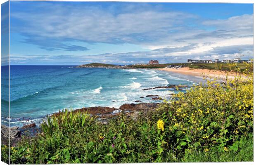
[[[160,71],[168,71],[173,73],[181,73],[184,75],[192,75],[198,78],[203,78],[206,76],[207,78],[222,78],[224,79],[226,76],[226,72],[224,71],[215,71],[215,70],[209,70],[209,69],[190,69],[188,67],[184,68],[159,68]],[[235,73],[229,73],[228,78],[235,78]]]

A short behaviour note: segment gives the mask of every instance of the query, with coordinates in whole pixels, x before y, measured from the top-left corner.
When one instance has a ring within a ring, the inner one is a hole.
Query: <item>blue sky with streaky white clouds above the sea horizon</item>
[[[10,64],[253,58],[253,4],[10,1]]]

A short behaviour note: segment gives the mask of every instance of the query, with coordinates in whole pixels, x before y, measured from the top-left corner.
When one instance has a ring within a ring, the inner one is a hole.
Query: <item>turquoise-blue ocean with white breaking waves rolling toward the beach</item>
[[[177,74],[153,69],[75,68],[75,66],[11,66],[10,126],[22,126],[29,120],[39,123],[47,114],[63,108],[109,106],[125,103],[161,102],[149,94],[170,99],[175,89],[142,90],[195,82]],[[8,87],[3,81],[1,87]],[[140,98],[145,97],[145,98]],[[2,97],[1,102],[6,103]],[[2,123],[6,118],[2,115]]]

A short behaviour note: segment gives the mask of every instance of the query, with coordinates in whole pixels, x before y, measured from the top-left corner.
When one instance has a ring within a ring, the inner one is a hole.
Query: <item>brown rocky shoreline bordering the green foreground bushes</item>
[[[90,116],[95,116],[99,122],[104,125],[108,124],[108,121],[118,117],[122,113],[126,116],[136,120],[141,113],[148,113],[149,111],[155,111],[161,103],[129,103],[122,104],[119,108],[111,108],[107,106],[94,106],[84,107],[73,110],[76,112],[86,112]],[[50,114],[50,116],[59,115],[59,112]],[[46,118],[45,118],[46,119]],[[1,124],[1,141],[3,144],[8,144],[10,141],[11,146],[16,146],[17,142],[21,140],[23,136],[37,136],[40,134],[40,124],[27,123],[22,127],[14,126],[8,127]]]

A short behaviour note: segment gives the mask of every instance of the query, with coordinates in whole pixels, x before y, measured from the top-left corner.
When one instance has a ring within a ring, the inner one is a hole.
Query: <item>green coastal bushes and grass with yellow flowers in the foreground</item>
[[[47,116],[41,132],[11,147],[10,163],[253,161],[253,66],[244,65],[229,65],[234,79],[194,85],[136,119],[123,112],[104,124],[68,109]]]

